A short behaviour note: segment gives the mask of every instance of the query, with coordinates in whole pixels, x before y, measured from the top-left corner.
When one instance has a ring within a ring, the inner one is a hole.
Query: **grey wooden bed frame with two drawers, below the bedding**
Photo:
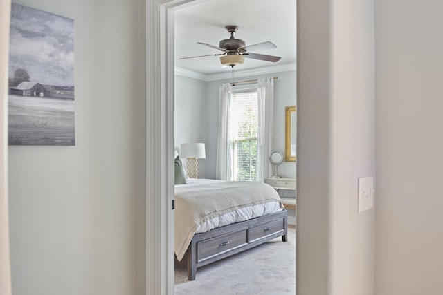
[[[286,210],[195,234],[183,257],[183,260],[186,257],[188,280],[195,280],[198,267],[261,245],[279,236],[282,236],[283,242],[287,242],[287,234]]]

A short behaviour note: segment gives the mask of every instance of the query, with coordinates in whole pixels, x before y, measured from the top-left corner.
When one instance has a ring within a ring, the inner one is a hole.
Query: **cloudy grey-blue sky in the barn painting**
[[[74,20],[12,3],[9,77],[24,68],[30,81],[74,86]]]

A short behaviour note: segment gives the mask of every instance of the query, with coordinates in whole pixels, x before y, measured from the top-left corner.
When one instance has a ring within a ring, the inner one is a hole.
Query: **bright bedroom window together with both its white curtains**
[[[263,182],[271,174],[273,79],[219,88],[216,178]]]

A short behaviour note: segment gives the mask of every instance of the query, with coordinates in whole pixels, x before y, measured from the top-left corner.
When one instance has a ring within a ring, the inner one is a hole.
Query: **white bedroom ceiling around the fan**
[[[217,56],[179,59],[196,55],[221,53],[197,41],[219,46],[219,41],[230,35],[226,25],[239,26],[235,38],[243,39],[246,46],[271,41],[277,48],[263,50],[264,55],[282,57],[276,63],[244,59],[235,66],[237,76],[242,71],[280,71],[296,64],[296,0],[209,0],[196,1],[197,5],[175,10],[175,67],[204,76],[230,75],[229,67],[222,68]],[[203,3],[201,3],[203,2]]]

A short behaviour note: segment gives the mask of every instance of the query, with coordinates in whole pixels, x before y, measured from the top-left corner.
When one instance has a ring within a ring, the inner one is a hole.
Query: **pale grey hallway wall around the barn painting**
[[[144,294],[143,1],[22,0],[75,19],[76,146],[10,146],[12,289]]]

